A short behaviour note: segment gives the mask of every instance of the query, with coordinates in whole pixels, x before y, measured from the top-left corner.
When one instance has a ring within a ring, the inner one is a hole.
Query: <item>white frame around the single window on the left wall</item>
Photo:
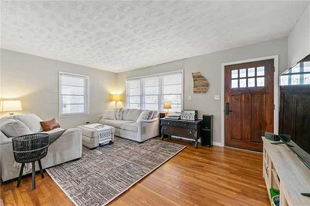
[[[84,89],[85,89],[85,103],[84,105],[84,112],[72,112],[68,114],[62,113],[62,75],[70,76],[70,77],[77,77],[78,79],[84,79]],[[59,72],[59,118],[67,118],[67,117],[79,117],[79,116],[88,116],[90,115],[90,77],[87,75],[82,74],[73,74],[73,73],[66,73],[66,72]],[[85,83],[86,81],[86,83]]]

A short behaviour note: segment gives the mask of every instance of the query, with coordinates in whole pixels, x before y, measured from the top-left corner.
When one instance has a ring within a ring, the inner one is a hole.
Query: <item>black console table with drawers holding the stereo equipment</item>
[[[159,120],[161,124],[161,140],[164,140],[164,134],[195,139],[195,148],[197,149],[198,139],[202,136],[202,119],[160,118]]]

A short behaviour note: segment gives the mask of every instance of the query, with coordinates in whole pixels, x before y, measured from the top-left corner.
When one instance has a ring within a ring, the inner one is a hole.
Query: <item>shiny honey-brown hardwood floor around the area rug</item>
[[[195,149],[186,140],[166,138],[186,148],[113,200],[109,206],[270,206],[262,177],[263,154],[228,147]],[[51,177],[36,174],[1,183],[4,206],[74,205]]]

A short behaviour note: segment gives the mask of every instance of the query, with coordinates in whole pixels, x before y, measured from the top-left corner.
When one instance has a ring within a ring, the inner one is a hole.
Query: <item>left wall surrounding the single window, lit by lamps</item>
[[[72,128],[96,122],[103,110],[115,108],[110,94],[118,92],[116,73],[41,58],[1,49],[0,97],[1,100],[21,100],[23,110],[16,114],[34,113],[43,120],[56,118],[62,128]],[[90,76],[90,115],[58,118],[58,72]],[[2,112],[1,117],[8,116]]]

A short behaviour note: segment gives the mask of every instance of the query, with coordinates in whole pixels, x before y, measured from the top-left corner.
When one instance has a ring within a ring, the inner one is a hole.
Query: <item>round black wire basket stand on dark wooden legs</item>
[[[25,163],[32,163],[32,190],[35,189],[35,161],[38,161],[40,167],[41,177],[43,178],[43,170],[41,159],[47,156],[48,134],[37,133],[27,134],[12,138],[14,159],[16,162],[22,163],[17,187],[20,185],[21,176]]]

